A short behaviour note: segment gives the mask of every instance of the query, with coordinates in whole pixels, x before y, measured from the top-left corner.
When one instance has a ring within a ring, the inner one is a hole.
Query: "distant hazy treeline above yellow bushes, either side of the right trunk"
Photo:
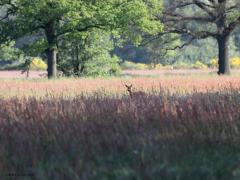
[[[185,40],[181,40],[182,43]],[[211,59],[218,57],[217,43],[213,39],[195,40],[192,44],[167,54],[163,52],[161,42],[150,42],[144,46],[134,46],[126,43],[123,47],[116,47],[114,53],[121,57],[123,61],[133,61],[135,63],[161,63],[163,65],[173,65],[175,63],[194,64],[201,61],[204,64],[210,63]],[[236,30],[230,41],[230,57],[240,57],[240,29]]]

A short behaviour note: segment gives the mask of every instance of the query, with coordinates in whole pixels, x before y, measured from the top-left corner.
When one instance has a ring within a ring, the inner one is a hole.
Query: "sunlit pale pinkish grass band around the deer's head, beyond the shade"
[[[101,92],[103,94],[127,93],[124,84],[133,84],[134,91],[168,91],[171,93],[217,92],[223,89],[239,89],[239,77],[182,77],[130,79],[63,79],[63,80],[2,80],[1,97],[13,96],[67,96]]]

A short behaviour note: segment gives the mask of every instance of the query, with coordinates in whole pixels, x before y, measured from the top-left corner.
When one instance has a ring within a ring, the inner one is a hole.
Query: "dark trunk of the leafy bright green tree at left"
[[[45,34],[48,42],[48,48],[46,50],[48,59],[48,79],[54,79],[57,77],[57,37],[55,36],[53,22],[46,25]]]

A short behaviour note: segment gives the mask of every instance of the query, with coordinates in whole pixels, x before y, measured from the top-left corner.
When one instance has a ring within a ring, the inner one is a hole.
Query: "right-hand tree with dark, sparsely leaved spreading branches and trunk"
[[[218,74],[230,73],[229,39],[240,25],[239,0],[170,0],[159,16],[165,33],[185,36],[190,44],[195,39],[214,38],[218,43]],[[192,11],[189,11],[191,9]]]

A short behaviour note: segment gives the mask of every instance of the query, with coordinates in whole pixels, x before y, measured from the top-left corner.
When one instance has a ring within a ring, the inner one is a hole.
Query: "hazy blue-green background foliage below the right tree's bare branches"
[[[237,48],[238,46],[235,46],[234,44],[236,41],[237,40],[234,40],[233,38],[230,39],[230,57],[240,55],[240,51]],[[182,42],[184,43],[185,41],[182,40]],[[201,62],[204,64],[211,64],[210,60],[212,57],[217,57],[217,43],[212,39],[197,40],[182,49],[166,51],[166,49],[176,47],[180,45],[180,43],[181,40],[179,37],[165,36],[141,47],[132,47],[128,43],[121,49],[116,48],[115,52],[120,58],[124,60],[131,60],[136,63],[152,62],[155,64],[161,63],[165,66],[172,64],[178,66],[176,63],[180,63],[182,64],[180,66],[183,67],[186,64],[194,64],[196,63],[196,60],[199,59],[201,59]]]

